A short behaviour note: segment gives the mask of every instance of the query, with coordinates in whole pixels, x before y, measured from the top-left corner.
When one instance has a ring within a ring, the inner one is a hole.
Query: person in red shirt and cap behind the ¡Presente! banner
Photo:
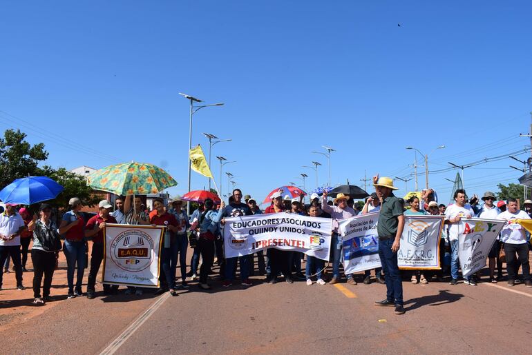
[[[264,213],[279,212],[285,212],[283,197],[281,196],[281,192],[275,192],[272,194],[272,205],[269,205]],[[290,267],[290,252],[271,248],[266,251],[266,254],[268,256],[268,263],[271,270],[270,274],[266,277],[266,282],[272,284],[276,283],[278,273],[283,272],[286,282],[294,283],[292,280],[292,268]]]

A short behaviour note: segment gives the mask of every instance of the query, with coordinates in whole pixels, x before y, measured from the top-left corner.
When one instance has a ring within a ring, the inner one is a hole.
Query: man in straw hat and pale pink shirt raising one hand
[[[348,207],[349,195],[337,194],[334,199],[334,206],[327,205],[327,190],[323,189],[323,199],[321,200],[321,209],[331,215],[332,218],[332,279],[330,284],[338,283],[340,281],[340,256],[342,254],[343,240],[341,235],[338,234],[338,220],[347,219],[352,216],[356,216],[357,212],[351,207]],[[357,285],[357,281],[354,281],[353,275],[349,274],[348,283],[350,285]]]

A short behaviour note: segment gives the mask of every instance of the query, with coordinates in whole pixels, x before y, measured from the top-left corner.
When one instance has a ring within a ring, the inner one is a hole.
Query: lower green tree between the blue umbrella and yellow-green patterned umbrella
[[[74,196],[79,197],[86,206],[93,206],[100,200],[100,196],[94,195],[93,188],[87,185],[84,176],[69,172],[65,168],[56,170],[44,165],[43,168],[39,169],[39,175],[48,176],[64,187],[64,190],[54,200],[48,201],[59,210],[66,209],[68,200]]]

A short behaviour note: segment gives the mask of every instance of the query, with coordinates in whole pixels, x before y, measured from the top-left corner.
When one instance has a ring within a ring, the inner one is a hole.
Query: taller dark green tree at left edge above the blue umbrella
[[[39,161],[48,158],[44,144],[30,145],[20,130],[6,130],[0,138],[0,188],[30,175],[37,175]]]

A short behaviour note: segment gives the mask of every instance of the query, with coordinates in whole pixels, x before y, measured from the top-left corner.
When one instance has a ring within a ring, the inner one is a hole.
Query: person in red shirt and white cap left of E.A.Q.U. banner
[[[87,281],[87,298],[93,299],[96,284],[96,275],[98,274],[99,265],[104,259],[104,228],[107,223],[117,223],[115,217],[111,216],[113,205],[107,200],[99,201],[99,212],[96,216],[88,220],[85,228],[85,236],[93,237],[93,252],[91,254],[91,271],[88,272]],[[118,287],[115,287],[115,290]],[[104,294],[111,294],[111,285],[104,283]]]

